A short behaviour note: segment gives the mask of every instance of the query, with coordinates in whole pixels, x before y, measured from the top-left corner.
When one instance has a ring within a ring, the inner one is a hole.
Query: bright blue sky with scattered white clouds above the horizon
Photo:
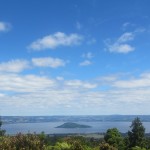
[[[149,115],[149,0],[0,0],[0,115]]]

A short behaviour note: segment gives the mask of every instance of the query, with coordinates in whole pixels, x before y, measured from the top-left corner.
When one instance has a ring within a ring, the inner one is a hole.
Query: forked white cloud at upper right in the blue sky
[[[108,51],[113,53],[129,53],[135,50],[135,47],[131,46],[128,42],[134,40],[134,33],[126,32],[121,35],[114,43],[110,43],[107,41],[106,46]]]

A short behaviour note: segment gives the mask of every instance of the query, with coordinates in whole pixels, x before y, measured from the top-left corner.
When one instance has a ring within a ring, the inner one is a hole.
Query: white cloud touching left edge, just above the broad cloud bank
[[[16,59],[0,63],[0,72],[21,72],[27,68],[30,68],[27,60]]]

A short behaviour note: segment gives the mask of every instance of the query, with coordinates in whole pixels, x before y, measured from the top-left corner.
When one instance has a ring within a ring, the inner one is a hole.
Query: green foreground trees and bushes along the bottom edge
[[[1,129],[0,150],[150,150],[150,138],[139,118],[135,118],[126,136],[117,128],[108,129],[104,138],[94,139],[83,136],[53,136],[41,134],[5,135]]]

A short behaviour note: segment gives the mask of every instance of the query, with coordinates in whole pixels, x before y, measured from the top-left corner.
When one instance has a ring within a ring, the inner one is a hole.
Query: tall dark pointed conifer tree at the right
[[[128,131],[129,147],[144,147],[145,128],[138,117],[132,121],[130,128],[131,131]]]

